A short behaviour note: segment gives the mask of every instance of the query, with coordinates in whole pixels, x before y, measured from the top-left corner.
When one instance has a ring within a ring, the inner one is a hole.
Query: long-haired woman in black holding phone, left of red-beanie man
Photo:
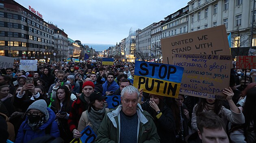
[[[57,89],[56,100],[52,102],[52,106],[50,107],[56,115],[55,120],[58,122],[60,137],[67,143],[69,143],[73,137],[67,125],[72,103],[73,101],[70,100],[70,92],[67,86],[64,85]]]

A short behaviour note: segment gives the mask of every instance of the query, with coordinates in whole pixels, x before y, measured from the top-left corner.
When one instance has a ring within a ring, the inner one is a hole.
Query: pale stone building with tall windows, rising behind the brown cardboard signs
[[[231,48],[250,47],[252,17],[254,22],[256,19],[256,11],[252,16],[253,2],[254,0],[191,0],[188,2],[188,31],[225,25],[227,34],[231,33]],[[256,46],[255,34],[252,46]]]

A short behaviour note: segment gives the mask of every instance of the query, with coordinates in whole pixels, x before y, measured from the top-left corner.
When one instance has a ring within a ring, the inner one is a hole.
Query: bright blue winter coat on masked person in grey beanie
[[[50,109],[50,108],[47,108],[47,110],[48,110],[49,116],[50,116],[49,120],[35,131],[33,131],[32,128],[28,125],[28,117],[26,118],[26,120],[24,122],[22,122],[22,124],[20,125],[20,129],[18,131],[18,134],[17,134],[17,138],[15,140],[15,143],[27,143],[28,141],[30,141],[32,139],[46,135],[45,129],[51,123],[52,123],[52,127],[51,127],[51,131],[50,131],[50,135],[53,137],[60,136],[58,124],[56,121],[54,121],[54,119],[55,119],[54,111],[52,111],[52,109]],[[25,135],[24,135],[24,132],[25,132]]]

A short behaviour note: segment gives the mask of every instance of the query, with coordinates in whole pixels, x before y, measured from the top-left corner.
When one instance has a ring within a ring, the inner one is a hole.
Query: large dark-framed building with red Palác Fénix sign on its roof
[[[41,13],[14,0],[0,2],[0,55],[15,59],[50,61],[54,30]]]

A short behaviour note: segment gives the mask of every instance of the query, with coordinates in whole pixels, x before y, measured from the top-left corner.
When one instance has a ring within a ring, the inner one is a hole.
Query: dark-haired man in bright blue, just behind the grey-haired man
[[[102,84],[103,92],[102,95],[106,95],[108,93],[113,93],[115,90],[119,88],[117,82],[114,81],[114,74],[112,72],[108,73],[107,81]]]

